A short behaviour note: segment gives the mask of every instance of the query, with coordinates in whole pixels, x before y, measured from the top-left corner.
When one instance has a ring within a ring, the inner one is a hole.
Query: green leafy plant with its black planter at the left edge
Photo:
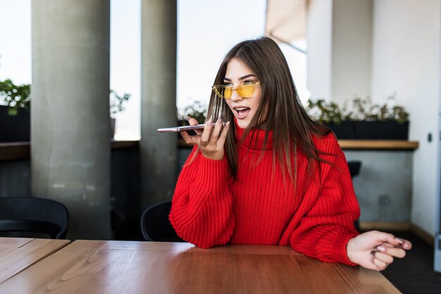
[[[30,85],[0,80],[0,142],[30,141]]]

